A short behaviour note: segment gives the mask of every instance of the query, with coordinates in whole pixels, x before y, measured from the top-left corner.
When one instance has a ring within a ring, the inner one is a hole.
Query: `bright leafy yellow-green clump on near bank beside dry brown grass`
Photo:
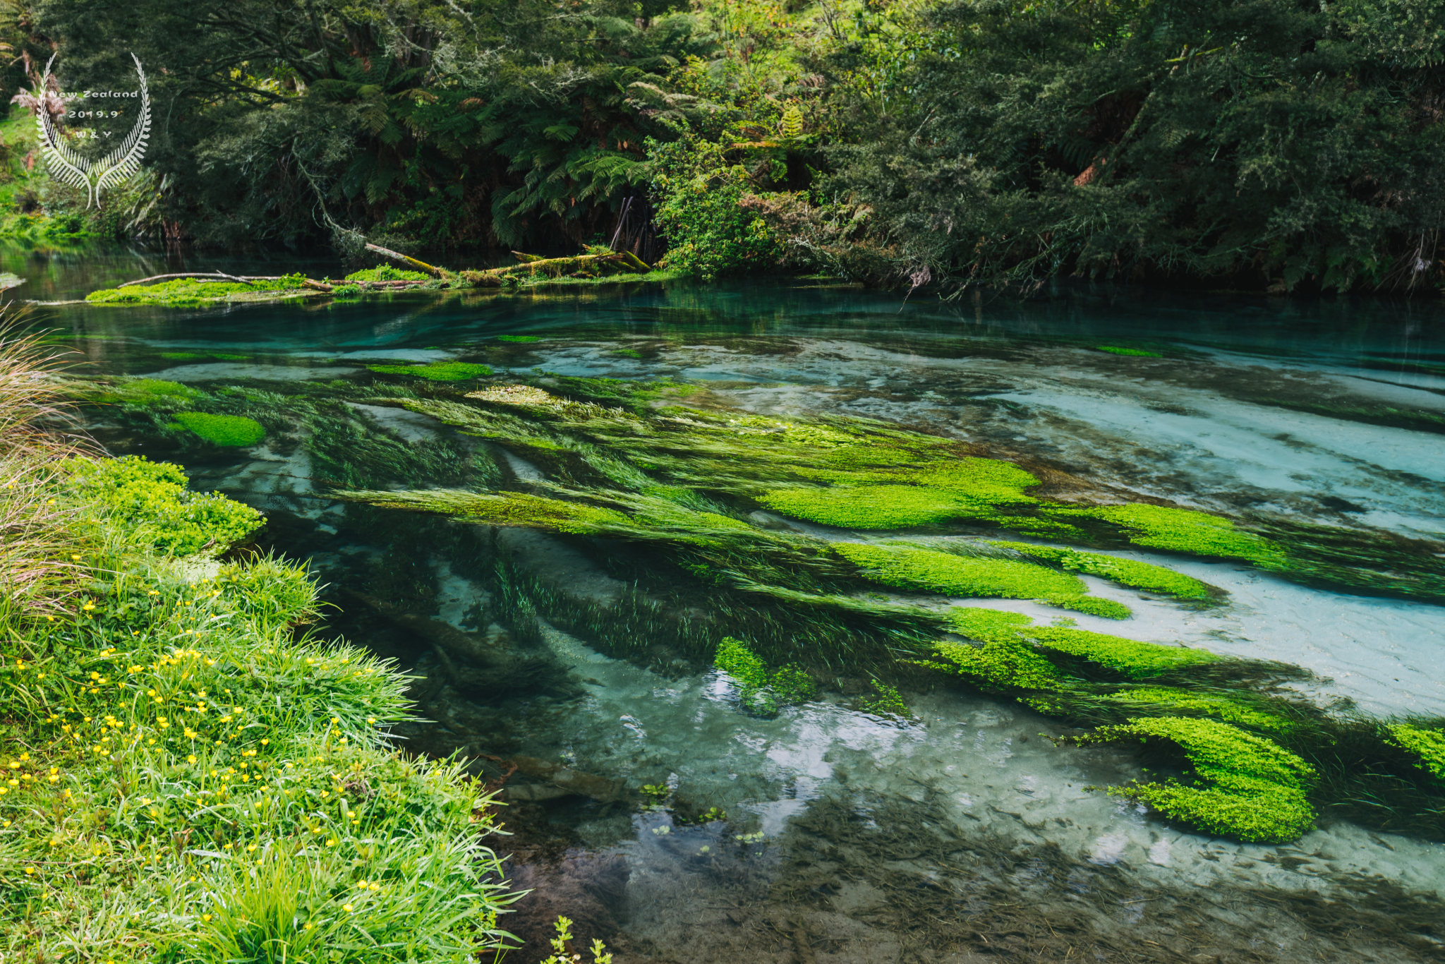
[[[103,506],[117,528],[160,552],[221,552],[263,522],[262,513],[220,493],[188,490],[185,473],[169,462],[139,455],[75,458],[66,468],[82,499]]]

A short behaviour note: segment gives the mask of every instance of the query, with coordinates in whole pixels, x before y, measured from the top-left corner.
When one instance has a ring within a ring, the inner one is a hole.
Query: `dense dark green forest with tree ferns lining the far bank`
[[[6,0],[0,39],[12,234],[1445,285],[1435,0]],[[35,176],[52,55],[64,91],[144,65],[146,168],[100,211]]]

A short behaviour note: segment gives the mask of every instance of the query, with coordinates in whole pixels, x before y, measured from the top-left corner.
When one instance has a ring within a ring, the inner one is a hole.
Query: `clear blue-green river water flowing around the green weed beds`
[[[53,301],[163,267],[126,251],[66,257],[46,266],[42,254],[10,253],[0,267],[32,269]],[[543,341],[506,360],[522,371],[666,374],[705,382],[714,400],[744,410],[893,419],[1182,504],[1445,532],[1445,314],[1433,305],[1088,292],[900,305],[844,286],[747,282],[42,311],[104,374],[285,395],[305,380],[367,377],[368,360],[468,356],[494,335],[529,334]],[[1098,345],[1189,353],[1127,357]],[[160,353],[246,358],[173,363]],[[371,431],[409,445],[454,438],[423,416],[364,410]],[[523,646],[491,620],[488,554],[578,597],[616,600],[626,588],[551,536],[510,532],[491,546],[475,528],[338,503],[296,439],[186,455],[110,431],[104,416],[95,428],[116,451],[179,458],[199,487],[267,510],[267,539],[309,558],[329,584],[340,608],[328,632],[420,673],[435,673],[436,658],[405,619]],[[1194,611],[1090,580],[1092,593],[1134,608],[1130,636],[1298,663],[1331,679],[1324,695],[1379,714],[1445,713],[1445,607],[1126,555],[1231,594],[1222,608]],[[644,669],[545,623],[526,646],[535,687],[431,694],[435,723],[406,731],[426,752],[525,756],[597,778],[592,796],[514,799],[507,811],[516,837],[500,848],[517,854],[517,883],[539,887],[513,918],[523,937],[564,912],[605,937],[618,961],[679,964],[1415,961],[1445,948],[1445,845],[1328,815],[1287,847],[1186,832],[1091,789],[1136,776],[1137,760],[1056,749],[1040,734],[1059,727],[1017,704],[913,694],[919,721],[902,724],[824,692],[759,720],[738,713],[724,678],[665,653]],[[688,804],[678,809],[717,806],[728,819],[675,825],[614,799],[643,783],[672,788]],[[532,788],[522,798],[549,792],[525,773],[516,785]]]

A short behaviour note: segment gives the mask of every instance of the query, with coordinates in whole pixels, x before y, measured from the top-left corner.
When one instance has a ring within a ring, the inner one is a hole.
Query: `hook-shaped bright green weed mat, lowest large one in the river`
[[[1189,783],[1134,782],[1110,786],[1110,793],[1146,804],[1160,814],[1211,834],[1250,844],[1298,840],[1315,821],[1305,791],[1315,770],[1272,740],[1214,720],[1143,717],[1098,727],[1074,746],[1140,740],[1165,741],[1183,752]]]

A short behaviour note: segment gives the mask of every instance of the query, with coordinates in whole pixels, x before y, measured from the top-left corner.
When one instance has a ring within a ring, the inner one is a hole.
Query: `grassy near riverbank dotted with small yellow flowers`
[[[0,332],[0,954],[499,947],[488,798],[390,747],[406,679],[308,634],[302,567],[227,552],[257,512],[58,435],[46,367]]]

